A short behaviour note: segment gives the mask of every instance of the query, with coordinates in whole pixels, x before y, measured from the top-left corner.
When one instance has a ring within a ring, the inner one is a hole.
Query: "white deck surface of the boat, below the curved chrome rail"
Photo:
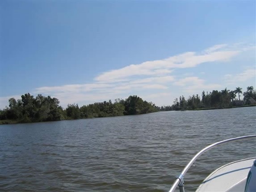
[[[228,163],[213,171],[196,192],[243,192],[249,170],[256,158]]]

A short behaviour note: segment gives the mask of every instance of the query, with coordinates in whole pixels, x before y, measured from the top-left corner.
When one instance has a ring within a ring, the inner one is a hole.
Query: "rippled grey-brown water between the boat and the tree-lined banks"
[[[168,191],[199,150],[252,134],[256,107],[0,125],[0,191]],[[185,190],[224,163],[256,156],[255,146],[248,139],[207,151]]]

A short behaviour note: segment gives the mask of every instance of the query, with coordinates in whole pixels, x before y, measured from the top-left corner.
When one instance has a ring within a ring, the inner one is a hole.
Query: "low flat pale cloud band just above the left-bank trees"
[[[114,100],[127,97],[127,92],[140,92],[143,90],[167,89],[166,83],[174,81],[174,77],[156,76],[144,79],[124,80],[123,82],[71,84],[54,87],[36,88],[35,92],[50,95],[60,100],[62,106],[72,103],[89,104],[103,100]]]

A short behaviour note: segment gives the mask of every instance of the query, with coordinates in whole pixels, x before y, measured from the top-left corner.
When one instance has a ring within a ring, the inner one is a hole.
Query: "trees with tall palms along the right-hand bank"
[[[243,100],[240,100],[242,94]],[[179,99],[176,98],[173,101],[171,106],[162,106],[160,110],[221,109],[252,104],[256,104],[256,91],[253,86],[250,86],[245,92],[242,92],[242,88],[237,87],[233,91],[227,90],[227,88],[221,91],[213,90],[209,93],[203,91],[201,98],[198,94],[189,96],[188,99],[180,96]]]

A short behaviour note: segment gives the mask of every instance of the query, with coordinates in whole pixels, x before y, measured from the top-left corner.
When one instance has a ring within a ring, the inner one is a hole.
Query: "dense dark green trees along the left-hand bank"
[[[114,117],[136,115],[159,111],[159,107],[138,96],[127,99],[116,99],[98,102],[79,107],[78,104],[68,104],[66,109],[59,106],[57,98],[26,93],[21,99],[10,98],[9,106],[0,110],[0,123],[25,123],[41,121],[59,121],[93,117]]]

